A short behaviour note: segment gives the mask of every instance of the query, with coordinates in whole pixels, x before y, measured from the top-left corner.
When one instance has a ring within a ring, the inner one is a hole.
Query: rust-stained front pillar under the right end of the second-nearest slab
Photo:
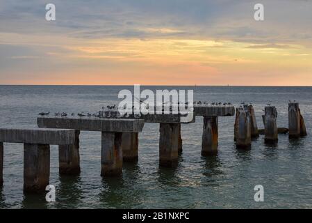
[[[122,132],[102,132],[101,176],[122,174]]]

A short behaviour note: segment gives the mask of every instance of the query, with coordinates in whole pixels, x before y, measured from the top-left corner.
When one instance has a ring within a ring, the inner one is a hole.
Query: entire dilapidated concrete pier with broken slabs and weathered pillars
[[[49,184],[50,148],[58,145],[59,173],[79,174],[79,135],[81,131],[101,132],[101,176],[122,174],[122,164],[138,160],[138,134],[145,123],[159,123],[159,164],[172,167],[182,151],[181,126],[195,122],[203,116],[202,155],[217,154],[218,118],[234,116],[234,140],[237,148],[251,148],[252,138],[264,134],[265,143],[276,144],[278,134],[288,132],[290,138],[304,137],[306,127],[297,102],[288,104],[288,129],[277,128],[277,109],[265,106],[263,130],[258,130],[254,107],[231,104],[198,105],[192,110],[192,118],[186,114],[139,114],[117,117],[117,110],[110,118],[99,117],[49,117],[37,118],[38,128],[0,129],[0,185],[3,184],[3,142],[24,144],[24,190],[37,192]],[[99,112],[100,114],[101,112]],[[103,112],[105,113],[105,112]]]

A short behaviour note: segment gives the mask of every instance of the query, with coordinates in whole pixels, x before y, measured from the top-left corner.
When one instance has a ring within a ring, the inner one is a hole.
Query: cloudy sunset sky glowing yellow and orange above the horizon
[[[312,1],[0,0],[0,84],[312,86]]]

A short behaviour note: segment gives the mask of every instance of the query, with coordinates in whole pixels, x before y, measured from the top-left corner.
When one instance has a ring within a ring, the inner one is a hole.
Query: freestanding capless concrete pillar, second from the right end
[[[277,131],[277,109],[274,106],[265,107],[265,142],[276,142],[278,140]]]

